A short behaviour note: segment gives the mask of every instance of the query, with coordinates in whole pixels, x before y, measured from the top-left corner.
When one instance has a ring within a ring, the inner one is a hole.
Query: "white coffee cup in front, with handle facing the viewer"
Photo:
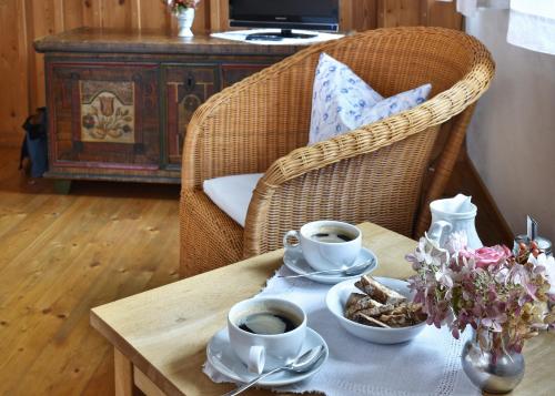
[[[272,313],[292,321],[296,327],[280,334],[254,334],[240,328],[242,321],[256,313]],[[235,304],[228,314],[230,345],[252,373],[281,367],[299,356],[306,336],[306,314],[286,299],[260,297]]]

